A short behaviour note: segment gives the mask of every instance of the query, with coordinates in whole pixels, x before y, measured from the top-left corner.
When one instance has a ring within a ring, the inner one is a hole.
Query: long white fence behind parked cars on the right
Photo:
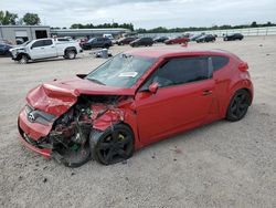
[[[216,34],[217,37],[223,37],[223,34],[231,34],[240,32],[245,37],[258,37],[258,35],[276,35],[276,27],[263,27],[263,28],[244,28],[244,29],[226,29],[226,30],[204,30],[204,31],[188,31],[188,32],[174,32],[174,33],[142,33],[139,37],[178,37],[183,33],[192,33],[192,34]]]

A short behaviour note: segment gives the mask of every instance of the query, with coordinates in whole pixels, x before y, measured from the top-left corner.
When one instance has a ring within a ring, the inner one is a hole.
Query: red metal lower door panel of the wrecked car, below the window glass
[[[204,121],[213,101],[213,94],[203,95],[205,90],[214,90],[212,80],[159,89],[153,95],[137,93],[137,122],[142,143],[150,144],[176,129]]]

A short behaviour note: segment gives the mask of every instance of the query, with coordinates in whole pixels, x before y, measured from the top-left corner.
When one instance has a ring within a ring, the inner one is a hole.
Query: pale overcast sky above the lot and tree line
[[[38,13],[42,24],[131,22],[135,28],[276,22],[275,0],[0,0],[0,10]]]

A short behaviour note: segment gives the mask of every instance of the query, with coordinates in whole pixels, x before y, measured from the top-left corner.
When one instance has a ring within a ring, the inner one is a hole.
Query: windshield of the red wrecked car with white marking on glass
[[[129,89],[155,61],[152,58],[118,54],[91,72],[86,79],[107,86]]]

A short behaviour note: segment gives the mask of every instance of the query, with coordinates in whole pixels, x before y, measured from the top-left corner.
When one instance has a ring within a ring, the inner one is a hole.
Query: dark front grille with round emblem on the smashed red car
[[[49,125],[55,121],[55,116],[40,110],[34,110],[30,105],[25,105],[25,113],[29,122],[40,123],[42,125]]]

